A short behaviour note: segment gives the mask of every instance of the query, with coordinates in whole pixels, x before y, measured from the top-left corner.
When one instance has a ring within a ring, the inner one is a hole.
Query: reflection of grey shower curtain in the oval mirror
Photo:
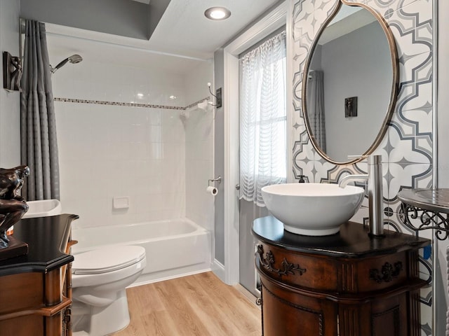
[[[326,123],[324,118],[323,71],[309,72],[307,82],[307,117],[316,144],[326,151]]]

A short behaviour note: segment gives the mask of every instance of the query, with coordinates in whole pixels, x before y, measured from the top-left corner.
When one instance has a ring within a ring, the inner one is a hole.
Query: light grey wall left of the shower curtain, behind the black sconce
[[[19,55],[19,10],[20,1],[0,0],[0,50],[2,54],[4,51],[8,51],[13,56]],[[2,78],[0,89],[0,167],[11,168],[20,165],[20,163],[20,94],[19,92],[4,90]]]

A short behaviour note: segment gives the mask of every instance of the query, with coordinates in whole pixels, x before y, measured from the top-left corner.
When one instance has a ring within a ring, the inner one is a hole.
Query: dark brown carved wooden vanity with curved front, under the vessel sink
[[[272,216],[257,218],[264,336],[418,336],[418,249],[428,239],[344,223],[340,233],[295,235]]]

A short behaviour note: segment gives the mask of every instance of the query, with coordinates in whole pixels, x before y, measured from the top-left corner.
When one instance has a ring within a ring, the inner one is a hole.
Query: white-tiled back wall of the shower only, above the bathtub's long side
[[[184,78],[178,75],[83,61],[52,80],[60,98],[185,106]],[[55,102],[55,111],[61,202],[65,212],[80,216],[76,225],[185,216],[181,110]],[[114,196],[129,196],[129,209],[113,209]]]

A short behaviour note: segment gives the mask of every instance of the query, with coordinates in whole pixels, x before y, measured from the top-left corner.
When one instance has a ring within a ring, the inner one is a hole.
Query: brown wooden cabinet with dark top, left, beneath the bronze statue
[[[15,239],[27,255],[0,261],[0,335],[72,335],[71,223],[63,214],[22,219]]]

